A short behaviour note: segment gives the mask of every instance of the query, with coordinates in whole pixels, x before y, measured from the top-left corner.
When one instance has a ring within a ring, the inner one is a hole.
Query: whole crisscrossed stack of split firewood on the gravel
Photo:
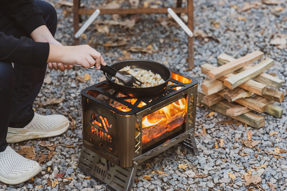
[[[280,118],[283,108],[272,103],[284,100],[284,94],[278,90],[282,80],[263,73],[273,66],[274,60],[267,58],[249,66],[263,54],[257,50],[235,59],[222,53],[217,57],[217,64],[221,66],[202,65],[201,72],[207,75],[207,79],[201,85],[199,103],[255,128],[265,125],[264,116],[256,112]]]

